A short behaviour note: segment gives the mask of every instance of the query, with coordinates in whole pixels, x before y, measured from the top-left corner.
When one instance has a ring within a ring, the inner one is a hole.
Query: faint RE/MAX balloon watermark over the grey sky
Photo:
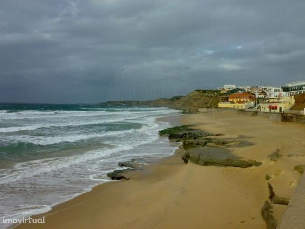
[[[195,90],[190,75],[173,62],[161,59],[138,60],[114,76],[108,101],[144,101],[185,96]]]

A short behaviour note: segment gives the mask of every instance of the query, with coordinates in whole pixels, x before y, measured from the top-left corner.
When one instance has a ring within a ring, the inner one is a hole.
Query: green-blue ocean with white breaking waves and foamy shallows
[[[0,216],[43,213],[110,182],[118,162],[149,163],[178,148],[157,122],[168,108],[0,104]],[[0,220],[0,227],[4,228]]]

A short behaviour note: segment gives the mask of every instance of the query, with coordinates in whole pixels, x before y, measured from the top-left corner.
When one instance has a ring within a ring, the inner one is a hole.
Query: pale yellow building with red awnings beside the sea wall
[[[277,97],[260,100],[259,111],[271,113],[284,113],[295,103],[294,96]]]

